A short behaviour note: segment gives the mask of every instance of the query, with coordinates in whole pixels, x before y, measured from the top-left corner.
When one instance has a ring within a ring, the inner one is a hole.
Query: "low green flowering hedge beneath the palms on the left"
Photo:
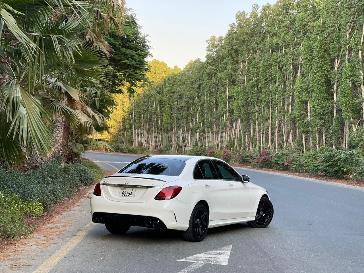
[[[60,199],[76,193],[103,177],[94,162],[62,164],[58,160],[36,170],[7,171],[0,168],[0,240],[31,232],[25,215],[39,217]]]

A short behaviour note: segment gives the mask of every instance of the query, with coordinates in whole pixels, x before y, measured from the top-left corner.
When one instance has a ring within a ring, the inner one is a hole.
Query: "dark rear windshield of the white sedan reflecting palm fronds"
[[[177,159],[139,158],[119,171],[122,174],[158,174],[178,176],[186,163]]]

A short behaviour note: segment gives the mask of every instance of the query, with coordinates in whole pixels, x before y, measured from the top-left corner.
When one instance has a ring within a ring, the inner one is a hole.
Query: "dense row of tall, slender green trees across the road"
[[[205,62],[132,96],[118,139],[175,151],[362,148],[363,36],[364,1],[253,5],[207,40]]]

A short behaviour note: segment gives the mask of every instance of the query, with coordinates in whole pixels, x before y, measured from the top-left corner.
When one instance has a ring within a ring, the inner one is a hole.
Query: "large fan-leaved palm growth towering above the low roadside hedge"
[[[113,105],[102,92],[112,53],[103,34],[122,33],[123,4],[0,0],[0,126],[6,130],[0,133],[0,164],[78,153],[75,143],[84,145],[85,137],[98,142],[96,127],[107,118],[100,101],[104,108]]]

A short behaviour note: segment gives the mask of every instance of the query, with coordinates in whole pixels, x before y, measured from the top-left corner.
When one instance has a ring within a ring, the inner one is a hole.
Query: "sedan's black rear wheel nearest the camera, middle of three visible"
[[[201,242],[209,229],[209,210],[202,203],[194,207],[188,229],[182,232],[183,239],[190,242]]]

